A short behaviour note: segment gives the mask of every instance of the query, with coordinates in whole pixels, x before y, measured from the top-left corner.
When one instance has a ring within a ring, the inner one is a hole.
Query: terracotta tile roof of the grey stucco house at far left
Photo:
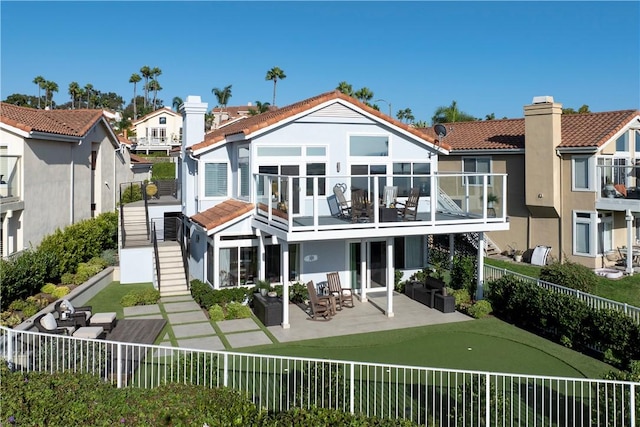
[[[37,110],[0,102],[0,122],[25,132],[81,137],[103,117],[102,110]]]

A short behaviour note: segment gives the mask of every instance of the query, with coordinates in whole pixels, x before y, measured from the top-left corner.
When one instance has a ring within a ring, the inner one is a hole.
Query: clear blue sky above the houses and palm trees
[[[232,85],[229,105],[368,87],[383,112],[431,121],[455,100],[475,117],[522,117],[534,96],[591,111],[640,108],[640,2],[110,1],[0,4],[0,97],[37,75],[130,101],[132,73],[159,67],[159,97]],[[140,90],[138,90],[140,94]]]

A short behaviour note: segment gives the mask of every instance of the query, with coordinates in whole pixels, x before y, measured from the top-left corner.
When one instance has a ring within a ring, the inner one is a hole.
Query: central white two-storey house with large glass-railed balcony
[[[509,228],[505,215],[489,217],[479,207],[481,192],[473,208],[463,211],[452,202],[449,195],[465,191],[465,175],[438,173],[446,144],[340,92],[247,117],[206,136],[207,105],[200,97],[188,97],[181,109],[184,196],[177,208],[187,231],[189,274],[214,288],[268,280],[283,284],[288,295],[290,282],[317,284],[337,271],[362,300],[385,295],[385,312],[393,316],[395,271],[408,277],[427,265],[430,235],[482,237]],[[504,174],[489,179],[506,185]],[[351,218],[340,215],[336,186],[352,199]],[[378,203],[386,186],[396,187],[398,202],[415,189],[416,217],[403,221],[389,206],[394,200]],[[369,203],[360,206],[356,220],[358,194]],[[141,271],[132,258],[121,253],[132,270]]]

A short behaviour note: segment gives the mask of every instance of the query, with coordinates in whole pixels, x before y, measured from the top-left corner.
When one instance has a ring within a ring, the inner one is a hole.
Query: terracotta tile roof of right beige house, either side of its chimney
[[[559,147],[600,147],[616,132],[639,116],[637,110],[562,116],[562,142]],[[504,150],[524,148],[524,120],[487,120],[447,123],[445,142],[457,150]],[[435,138],[433,128],[424,130]]]

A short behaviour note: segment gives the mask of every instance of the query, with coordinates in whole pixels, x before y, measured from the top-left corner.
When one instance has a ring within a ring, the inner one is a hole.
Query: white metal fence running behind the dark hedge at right
[[[514,276],[520,280],[536,284],[550,291],[574,296],[579,300],[587,303],[587,305],[589,305],[590,307],[593,307],[599,310],[609,309],[609,310],[621,311],[627,316],[631,317],[637,323],[640,323],[640,308],[635,307],[633,305],[602,298],[597,295],[591,295],[589,293],[582,292],[577,289],[566,288],[564,286],[556,285],[551,282],[546,282],[544,280],[536,279],[535,277],[529,277],[529,276],[525,276],[524,274],[515,273],[505,268],[498,268],[492,265],[485,264],[484,266],[484,282],[485,283],[490,282],[492,280],[498,280],[504,276]]]

